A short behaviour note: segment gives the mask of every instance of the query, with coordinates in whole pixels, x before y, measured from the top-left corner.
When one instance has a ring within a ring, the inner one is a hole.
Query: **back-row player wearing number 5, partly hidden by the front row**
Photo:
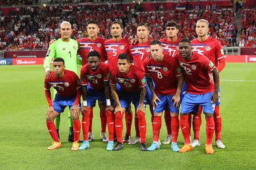
[[[105,41],[105,49],[108,58],[109,70],[114,70],[117,67],[117,57],[119,54],[126,53],[129,54],[129,41],[122,38],[123,32],[122,23],[119,21],[114,21],[111,23],[111,35],[112,39]],[[119,87],[117,87],[119,89]],[[107,115],[108,116],[108,115]],[[130,131],[132,127],[132,110],[127,108],[126,110],[126,137],[124,137],[124,142],[130,142]]]

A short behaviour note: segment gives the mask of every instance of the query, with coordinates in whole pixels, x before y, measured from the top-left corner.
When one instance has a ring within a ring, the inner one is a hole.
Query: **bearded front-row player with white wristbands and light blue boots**
[[[90,126],[90,114],[92,114],[93,107],[96,100],[103,103],[106,110],[111,110],[110,94],[109,94],[109,67],[103,62],[100,62],[100,53],[91,51],[87,55],[88,63],[81,68],[81,86],[83,107],[82,110],[82,127],[83,127],[83,143],[79,150],[89,148],[88,132]],[[111,112],[112,113],[112,112]],[[111,114],[109,113],[109,114]],[[106,115],[106,111],[105,111]],[[114,125],[109,131],[109,142],[107,150],[112,150],[114,145]]]

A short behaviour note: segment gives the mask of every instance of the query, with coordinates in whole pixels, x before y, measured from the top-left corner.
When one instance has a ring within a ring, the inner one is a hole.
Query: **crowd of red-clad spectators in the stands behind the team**
[[[6,1],[2,3],[8,3]],[[85,2],[85,1],[83,1]],[[22,4],[23,1],[19,1]],[[132,4],[121,10],[116,4],[105,6],[72,6],[69,1],[49,7],[25,6],[0,15],[0,49],[7,51],[24,49],[48,49],[49,41],[59,38],[59,23],[72,23],[73,38],[87,37],[88,20],[100,22],[100,35],[111,38],[109,25],[119,20],[124,25],[124,38],[135,38],[137,23],[150,25],[150,38],[164,38],[164,25],[169,20],[179,23],[179,37],[194,39],[195,22],[205,18],[210,22],[209,36],[218,39],[224,47],[231,46],[233,36],[240,31],[235,24],[233,10],[174,10],[141,12]],[[241,42],[244,46],[255,46],[255,10],[242,10]]]

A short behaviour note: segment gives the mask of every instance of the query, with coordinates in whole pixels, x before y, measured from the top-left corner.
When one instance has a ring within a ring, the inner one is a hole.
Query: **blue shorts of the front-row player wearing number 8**
[[[179,107],[176,108],[175,105],[173,106],[173,101],[171,102],[173,96],[174,95],[157,95],[161,102],[156,101],[158,106],[156,106],[153,110],[154,113],[162,113],[164,110],[166,110],[166,108],[169,108],[169,110],[173,113],[179,113]]]

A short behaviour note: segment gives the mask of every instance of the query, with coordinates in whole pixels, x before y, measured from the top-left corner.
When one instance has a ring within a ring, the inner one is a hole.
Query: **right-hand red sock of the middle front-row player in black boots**
[[[141,110],[137,111],[137,118],[138,118],[138,125],[139,125],[139,134],[140,134],[140,143],[146,142],[146,130],[147,130],[147,124],[145,119],[145,113],[143,113]]]

